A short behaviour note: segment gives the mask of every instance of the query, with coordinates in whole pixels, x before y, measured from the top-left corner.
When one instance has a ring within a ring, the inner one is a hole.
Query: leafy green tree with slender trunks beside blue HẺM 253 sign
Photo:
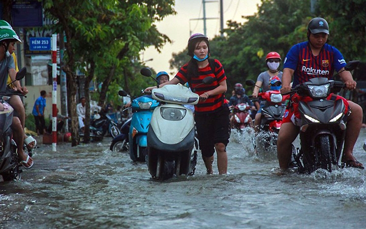
[[[44,0],[48,17],[56,21],[56,32],[64,31],[67,43],[64,71],[67,74],[72,117],[72,146],[79,144],[76,115],[77,67],[85,72],[86,117],[89,117],[88,83],[97,68],[107,68],[100,99],[105,100],[108,86],[120,65],[131,64],[131,57],[149,45],[161,47],[169,39],[160,34],[153,21],[174,13],[173,0],[111,1],[111,0]],[[102,70],[98,70],[101,72]],[[100,76],[100,75],[99,75]],[[97,78],[99,81],[99,79]],[[86,120],[86,123],[88,121]],[[87,128],[86,128],[87,129]]]

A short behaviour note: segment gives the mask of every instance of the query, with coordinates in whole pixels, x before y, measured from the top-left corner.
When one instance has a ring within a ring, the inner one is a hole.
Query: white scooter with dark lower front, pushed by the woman
[[[141,74],[151,77],[143,68]],[[206,77],[203,83],[215,79]],[[198,87],[198,86],[197,86]],[[197,104],[199,96],[182,85],[154,89],[154,99],[163,104],[153,111],[147,132],[147,166],[154,180],[193,175],[197,161],[193,113],[184,104]]]

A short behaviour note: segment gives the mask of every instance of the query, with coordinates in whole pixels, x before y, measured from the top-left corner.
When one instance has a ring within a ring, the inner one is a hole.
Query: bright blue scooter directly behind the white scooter
[[[119,91],[120,96],[127,96],[125,91]],[[132,100],[131,108],[134,111],[130,124],[129,152],[133,161],[144,162],[146,158],[147,131],[149,129],[153,110],[159,102],[150,96],[141,96]]]

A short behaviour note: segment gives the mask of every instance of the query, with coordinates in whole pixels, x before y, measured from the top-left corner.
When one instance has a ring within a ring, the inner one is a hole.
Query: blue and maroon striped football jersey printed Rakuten
[[[290,49],[284,61],[284,68],[294,70],[292,88],[311,78],[331,79],[334,70],[339,72],[346,66],[342,53],[335,47],[324,44],[319,55],[314,56],[309,41],[298,43]]]

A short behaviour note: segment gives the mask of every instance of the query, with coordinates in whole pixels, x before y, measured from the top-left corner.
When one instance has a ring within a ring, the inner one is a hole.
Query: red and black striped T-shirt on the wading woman
[[[175,78],[179,79],[181,84],[185,84],[188,81],[188,63],[180,68],[178,73],[175,75]],[[208,76],[212,76],[216,78],[214,82],[211,84],[202,84],[202,80]],[[215,69],[211,70],[210,65],[208,64],[204,68],[198,69],[198,77],[193,76],[190,83],[191,88],[195,88],[198,95],[202,95],[205,92],[210,90],[214,90],[219,87],[219,83],[226,79],[226,75],[224,72],[224,68],[221,63],[215,59]],[[218,111],[219,108],[226,104],[227,101],[225,99],[224,94],[209,96],[205,101],[200,100],[197,105],[195,105],[196,112],[202,113],[210,113],[214,111]]]

